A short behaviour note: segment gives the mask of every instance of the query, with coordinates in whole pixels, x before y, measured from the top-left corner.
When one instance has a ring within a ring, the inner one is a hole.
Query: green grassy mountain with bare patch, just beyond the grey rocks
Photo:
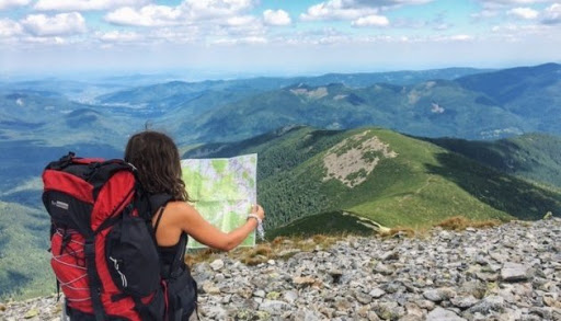
[[[184,157],[245,152],[259,153],[259,197],[268,213],[268,228],[337,210],[387,227],[426,227],[457,215],[504,220],[561,213],[557,190],[387,129],[297,126],[236,144],[197,147]]]

